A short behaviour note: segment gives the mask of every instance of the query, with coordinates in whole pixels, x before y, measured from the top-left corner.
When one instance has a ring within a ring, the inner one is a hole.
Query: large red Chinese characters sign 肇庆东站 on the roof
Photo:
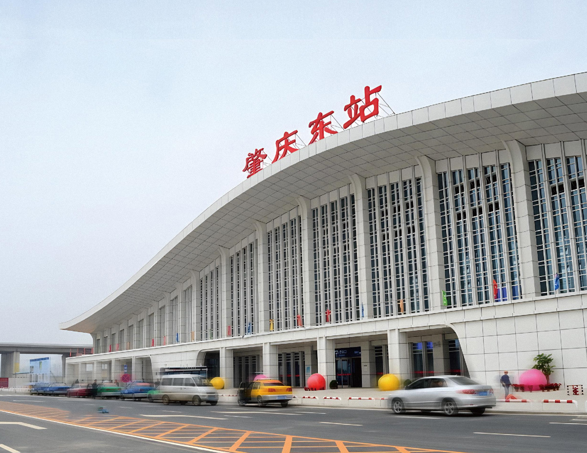
[[[370,118],[379,116],[379,98],[377,97],[377,93],[380,91],[381,85],[373,89],[367,85],[362,98],[357,98],[354,95],[350,96],[350,101],[345,106],[345,112],[348,114],[349,119],[348,121],[345,121],[342,128],[340,128],[340,126],[339,128],[342,130],[348,129],[348,127],[355,124],[357,120],[365,123],[365,121]],[[387,106],[385,103],[383,103],[383,105]],[[308,127],[311,129],[310,133],[312,134],[312,138],[309,144],[322,140],[325,137],[325,133],[332,135],[339,132],[335,130],[335,126],[332,124],[332,120],[334,119],[333,114],[334,110],[330,110],[328,113],[320,112],[318,113],[318,116],[316,116],[316,119],[310,121]],[[283,137],[278,138],[278,140],[275,141],[275,157],[271,163],[275,163],[284,158],[288,153],[291,154],[298,151],[298,148],[296,147],[296,134],[298,134],[298,130],[292,132],[286,131]],[[267,155],[263,153],[263,149],[264,148],[255,149],[255,153],[248,153],[247,160],[245,161],[245,168],[242,170],[248,173],[247,178],[250,178],[252,175],[259,173],[259,171],[262,170],[262,163],[267,157]]]

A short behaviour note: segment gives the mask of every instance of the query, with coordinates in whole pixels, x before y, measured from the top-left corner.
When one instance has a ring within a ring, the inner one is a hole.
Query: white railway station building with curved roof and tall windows
[[[205,366],[227,387],[498,386],[546,353],[552,382],[587,384],[587,73],[337,132],[250,175],[60,324],[93,338],[68,379]]]

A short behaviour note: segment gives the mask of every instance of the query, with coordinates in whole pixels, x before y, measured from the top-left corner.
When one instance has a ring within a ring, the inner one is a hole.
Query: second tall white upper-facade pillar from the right
[[[442,231],[440,228],[440,198],[438,195],[438,177],[436,163],[423,155],[416,157],[422,169],[424,198],[424,227],[426,228],[426,254],[428,255],[428,289],[430,293],[430,311],[443,309],[442,291],[444,282],[444,261]],[[390,353],[391,356],[391,353]],[[393,373],[393,371],[390,371]],[[407,378],[406,378],[407,379]]]

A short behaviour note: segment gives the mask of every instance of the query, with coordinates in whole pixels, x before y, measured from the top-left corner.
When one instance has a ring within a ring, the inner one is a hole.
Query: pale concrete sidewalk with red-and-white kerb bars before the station
[[[587,413],[587,395],[569,396],[566,391],[517,392],[518,401],[504,402],[501,388],[497,393],[498,403],[488,409],[490,412],[535,413],[535,414],[585,414]],[[219,390],[220,401],[236,402],[237,389]],[[377,388],[337,388],[336,390],[304,391],[294,388],[291,405],[313,405],[327,407],[353,408],[387,408],[387,397],[392,392],[379,391]],[[500,399],[501,398],[501,399]],[[543,403],[544,400],[558,400],[560,403]],[[571,400],[575,403],[567,403]],[[523,402],[522,402],[523,401]],[[587,419],[586,419],[587,422]]]

